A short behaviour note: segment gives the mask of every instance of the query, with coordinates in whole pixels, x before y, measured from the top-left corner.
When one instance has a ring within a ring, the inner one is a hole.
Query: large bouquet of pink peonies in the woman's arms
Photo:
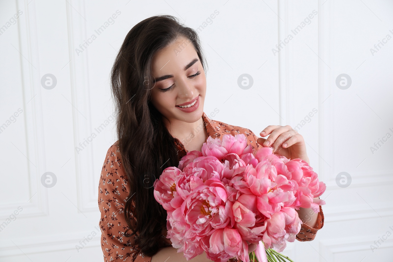
[[[187,260],[205,251],[216,262],[290,260],[279,252],[300,231],[296,210],[319,212],[325,202],[314,198],[325,189],[307,162],[270,147],[253,151],[244,134],[209,136],[202,152],[188,152],[154,181],[172,246]],[[249,253],[249,244],[257,249]]]

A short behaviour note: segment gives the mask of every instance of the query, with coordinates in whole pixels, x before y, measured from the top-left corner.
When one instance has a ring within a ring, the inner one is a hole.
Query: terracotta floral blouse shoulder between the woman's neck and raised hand
[[[222,121],[218,120],[211,120],[208,119],[209,123],[213,127],[213,132],[214,134],[211,134],[211,136],[215,137],[222,137],[225,134],[230,134],[232,136],[238,135],[238,134],[244,134],[247,138],[247,145],[251,145],[251,147],[255,150],[258,150],[261,145],[257,143],[258,137],[255,136],[254,132],[252,132],[249,128],[244,128],[242,126],[236,126],[236,125],[230,125],[228,123],[224,123]]]

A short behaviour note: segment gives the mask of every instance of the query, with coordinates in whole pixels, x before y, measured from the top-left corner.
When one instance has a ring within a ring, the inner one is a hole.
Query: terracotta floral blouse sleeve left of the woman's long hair
[[[124,236],[124,232],[129,229],[124,218],[125,202],[129,195],[128,185],[129,181],[123,169],[119,148],[114,143],[108,149],[98,186],[98,206],[101,212],[99,227],[104,262],[151,262],[151,257],[144,255],[135,244],[135,235]],[[136,221],[132,215],[134,208],[135,205],[132,202],[131,223]]]

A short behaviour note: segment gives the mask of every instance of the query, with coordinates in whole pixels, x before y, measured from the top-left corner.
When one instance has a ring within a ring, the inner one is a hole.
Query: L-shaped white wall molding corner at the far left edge
[[[27,179],[29,188],[23,190],[29,192],[30,199],[26,202],[13,203],[11,199],[3,200],[0,204],[1,213],[0,220],[3,222],[9,218],[18,206],[23,208],[19,217],[31,216],[45,216],[48,214],[48,194],[47,189],[41,185],[41,175],[46,172],[45,164],[45,150],[44,150],[44,130],[41,108],[41,95],[40,95],[40,73],[39,73],[39,53],[37,46],[37,28],[35,24],[35,4],[26,7],[26,1],[16,1],[18,8],[23,10],[24,16],[20,16],[18,21],[18,45],[15,48],[19,49],[20,55],[18,59],[21,63],[20,77],[22,79],[22,93],[23,93],[23,116],[25,126],[25,137],[27,144],[27,152],[22,152],[17,156],[21,161],[26,161],[28,170],[25,177]],[[16,10],[16,11],[17,11]],[[15,51],[16,52],[16,51]],[[31,63],[31,64],[30,64]],[[11,143],[18,145],[16,141],[10,141],[10,146],[14,147]],[[18,146],[20,147],[20,145]],[[18,148],[17,147],[17,148]],[[19,149],[18,149],[19,150]],[[23,156],[24,154],[25,156]]]

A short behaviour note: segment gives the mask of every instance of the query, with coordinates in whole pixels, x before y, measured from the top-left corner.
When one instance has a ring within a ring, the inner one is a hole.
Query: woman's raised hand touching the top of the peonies
[[[267,126],[260,135],[270,135],[267,139],[259,137],[257,143],[263,147],[272,147],[273,153],[290,159],[300,158],[310,164],[303,136],[291,126]]]

